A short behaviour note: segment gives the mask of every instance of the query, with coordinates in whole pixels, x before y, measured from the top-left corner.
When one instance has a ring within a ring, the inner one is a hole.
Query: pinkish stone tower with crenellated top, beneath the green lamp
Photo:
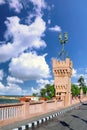
[[[53,59],[52,61],[55,96],[64,97],[65,106],[71,104],[71,75],[72,61],[66,58],[64,61]]]

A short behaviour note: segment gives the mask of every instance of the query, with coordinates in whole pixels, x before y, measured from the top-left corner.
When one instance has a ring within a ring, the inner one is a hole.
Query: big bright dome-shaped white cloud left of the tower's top
[[[11,74],[22,80],[35,80],[50,76],[50,69],[45,61],[45,55],[38,56],[34,53],[23,53],[13,58],[9,65]]]

